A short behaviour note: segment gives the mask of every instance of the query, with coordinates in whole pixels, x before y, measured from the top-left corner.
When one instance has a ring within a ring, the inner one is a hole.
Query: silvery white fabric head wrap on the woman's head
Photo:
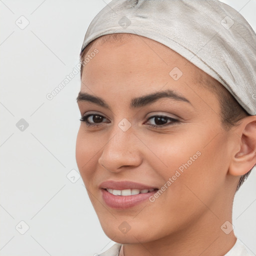
[[[142,35],[166,45],[256,115],[256,34],[229,5],[218,0],[112,0],[89,24],[81,51],[111,33]]]

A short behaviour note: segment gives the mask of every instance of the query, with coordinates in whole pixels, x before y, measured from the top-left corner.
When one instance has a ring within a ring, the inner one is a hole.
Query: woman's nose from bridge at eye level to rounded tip
[[[109,139],[98,159],[99,164],[109,171],[118,171],[118,168],[123,165],[138,164],[139,155],[135,152],[135,136],[131,123],[124,118],[112,128],[109,134]]]

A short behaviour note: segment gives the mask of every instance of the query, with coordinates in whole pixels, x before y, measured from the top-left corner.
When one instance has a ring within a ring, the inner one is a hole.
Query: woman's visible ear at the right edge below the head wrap
[[[229,165],[229,173],[239,176],[247,173],[256,163],[256,115],[244,117],[234,129],[237,146]]]

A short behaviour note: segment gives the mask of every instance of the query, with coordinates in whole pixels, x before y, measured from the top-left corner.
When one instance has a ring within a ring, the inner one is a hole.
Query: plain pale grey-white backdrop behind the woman
[[[114,243],[76,172],[79,73],[46,98],[78,63],[86,28],[108,2],[0,0],[0,255],[92,255]],[[256,30],[256,0],[224,2]],[[16,126],[21,118],[28,127]],[[233,208],[235,234],[254,254],[255,184],[254,169]]]

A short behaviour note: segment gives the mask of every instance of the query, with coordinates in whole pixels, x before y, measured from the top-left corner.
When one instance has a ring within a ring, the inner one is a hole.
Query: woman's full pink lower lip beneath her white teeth
[[[106,205],[114,209],[127,209],[142,203],[153,195],[156,190],[147,193],[139,193],[134,195],[114,195],[101,188],[102,197]]]

